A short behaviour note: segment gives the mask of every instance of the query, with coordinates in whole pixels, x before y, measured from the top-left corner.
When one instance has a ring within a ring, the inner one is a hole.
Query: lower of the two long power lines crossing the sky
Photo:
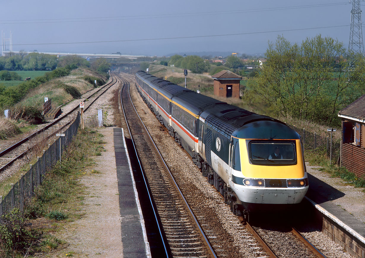
[[[272,32],[285,32],[285,31],[315,30],[315,29],[322,29],[322,28],[338,28],[338,27],[348,27],[348,26],[350,26],[350,25],[338,25],[338,26],[315,27],[315,28],[301,28],[301,29],[290,29],[290,30],[275,30],[275,31],[257,31],[257,32],[244,32],[244,33],[220,34],[220,35],[184,36],[184,37],[171,37],[171,38],[124,39],[124,40],[114,40],[114,41],[85,41],[85,42],[62,42],[62,43],[13,44],[13,46],[66,45],[66,44],[88,44],[88,43],[111,43],[111,42],[131,42],[131,41],[151,41],[151,40],[166,40],[166,39],[208,38],[208,37],[219,37],[219,36],[237,36],[237,35],[272,33]]]

